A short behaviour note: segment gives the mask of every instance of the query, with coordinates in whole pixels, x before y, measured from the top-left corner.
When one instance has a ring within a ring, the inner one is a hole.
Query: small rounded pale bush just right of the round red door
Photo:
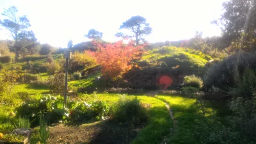
[[[195,88],[203,87],[203,80],[195,75],[184,77],[184,86],[192,86]]]

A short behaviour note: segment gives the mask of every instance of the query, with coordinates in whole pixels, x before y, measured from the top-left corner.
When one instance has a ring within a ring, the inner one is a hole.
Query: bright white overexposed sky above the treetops
[[[220,27],[211,24],[221,15],[224,0],[0,0],[4,8],[16,6],[19,15],[27,15],[38,42],[67,47],[85,42],[90,29],[103,33],[103,40],[114,42],[122,22],[132,16],[147,19],[152,34],[148,42],[189,39],[195,31],[205,36],[221,35]],[[3,19],[3,15],[0,15]],[[12,39],[0,30],[0,40]]]

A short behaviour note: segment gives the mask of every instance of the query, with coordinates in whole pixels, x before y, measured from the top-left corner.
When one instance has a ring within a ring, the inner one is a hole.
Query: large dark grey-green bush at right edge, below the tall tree
[[[224,90],[226,93],[234,88],[237,76],[243,76],[244,70],[256,70],[255,52],[243,52],[229,56],[223,61],[208,68],[204,75],[204,88],[208,91],[212,86]]]

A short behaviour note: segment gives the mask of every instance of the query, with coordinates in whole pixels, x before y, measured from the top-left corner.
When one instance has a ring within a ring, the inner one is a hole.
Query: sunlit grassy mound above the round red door
[[[148,64],[163,63],[168,68],[179,65],[184,74],[196,74],[202,76],[207,61],[212,60],[211,56],[193,49],[181,47],[161,47],[152,49],[144,54],[141,61]]]

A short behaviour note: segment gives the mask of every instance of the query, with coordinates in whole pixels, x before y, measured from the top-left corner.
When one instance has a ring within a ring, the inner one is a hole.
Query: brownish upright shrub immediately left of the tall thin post
[[[63,94],[65,88],[65,74],[59,73],[48,78],[50,92],[54,94]]]

